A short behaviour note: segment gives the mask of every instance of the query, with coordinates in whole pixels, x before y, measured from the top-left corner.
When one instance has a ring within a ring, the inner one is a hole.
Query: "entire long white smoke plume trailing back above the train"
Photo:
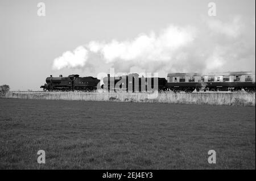
[[[255,71],[255,17],[246,21],[233,16],[227,22],[206,18],[200,28],[170,25],[131,40],[90,41],[53,61],[55,70],[86,65],[126,72]]]

